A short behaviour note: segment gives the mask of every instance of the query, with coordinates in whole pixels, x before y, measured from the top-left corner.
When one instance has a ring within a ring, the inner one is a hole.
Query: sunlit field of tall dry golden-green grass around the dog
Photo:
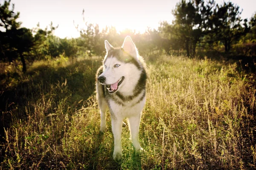
[[[1,66],[1,170],[256,168],[254,75],[236,63],[170,56],[147,62],[146,152],[134,152],[124,127],[122,161],[113,161],[109,111],[99,133],[94,82],[101,60],[38,61],[26,75]]]

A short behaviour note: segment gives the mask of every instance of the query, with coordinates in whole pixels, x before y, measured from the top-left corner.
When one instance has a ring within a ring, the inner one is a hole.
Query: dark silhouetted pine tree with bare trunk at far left
[[[32,47],[32,33],[27,28],[19,28],[21,23],[16,21],[19,13],[14,13],[14,4],[12,5],[12,10],[9,10],[9,6],[10,0],[5,0],[3,5],[0,4],[0,27],[5,28],[5,32],[0,31],[0,59],[3,60],[7,57],[11,62],[13,58],[20,57],[23,64],[23,72],[26,72],[23,53],[28,53]]]

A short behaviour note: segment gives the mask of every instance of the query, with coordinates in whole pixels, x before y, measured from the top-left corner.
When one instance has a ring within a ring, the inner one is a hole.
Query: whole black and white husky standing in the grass
[[[106,129],[106,109],[111,113],[114,136],[113,159],[122,159],[122,124],[128,119],[134,148],[143,148],[139,142],[141,111],[145,104],[145,62],[138,54],[131,37],[127,36],[121,48],[114,48],[105,40],[106,55],[96,74],[96,91],[101,113],[100,131]]]

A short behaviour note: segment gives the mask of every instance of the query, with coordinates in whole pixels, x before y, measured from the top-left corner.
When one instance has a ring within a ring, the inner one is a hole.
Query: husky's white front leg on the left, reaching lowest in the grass
[[[111,116],[112,132],[114,136],[114,152],[113,159],[119,161],[122,159],[122,119],[117,119],[115,116]]]

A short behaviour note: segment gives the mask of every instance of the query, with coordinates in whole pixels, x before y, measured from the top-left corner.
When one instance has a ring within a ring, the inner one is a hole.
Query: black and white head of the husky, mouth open
[[[136,83],[140,78],[142,65],[131,37],[125,37],[121,48],[114,48],[105,40],[105,48],[107,54],[103,60],[103,73],[98,77],[99,82],[107,85],[110,94]]]

